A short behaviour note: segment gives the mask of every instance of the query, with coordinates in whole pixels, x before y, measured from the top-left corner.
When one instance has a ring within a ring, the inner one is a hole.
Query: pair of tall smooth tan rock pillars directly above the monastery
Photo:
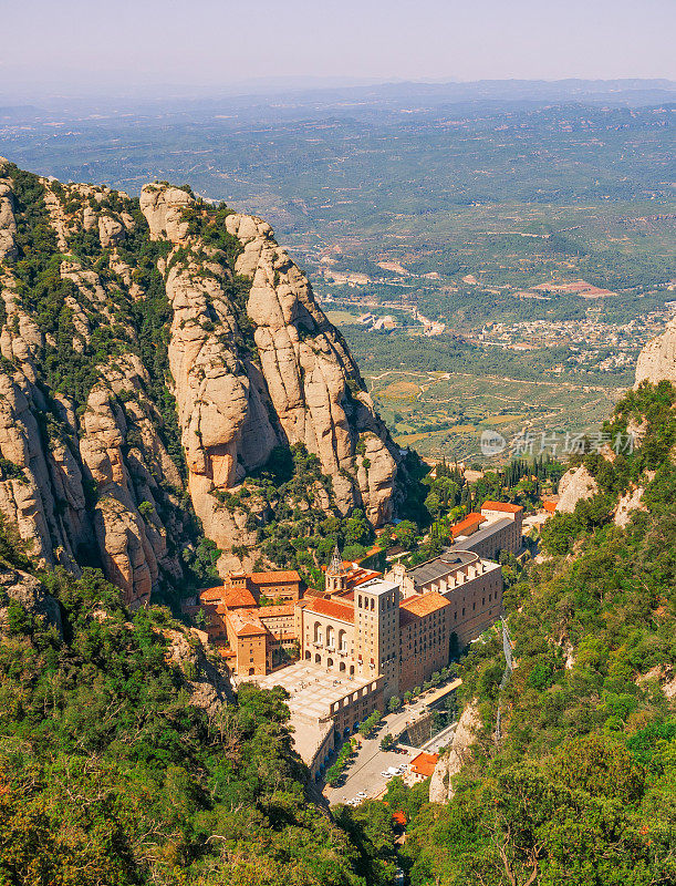
[[[190,495],[205,532],[221,548],[250,544],[251,536],[214,493],[237,487],[275,445],[294,443],[319,456],[343,514],[362,506],[372,523],[386,521],[398,451],[308,279],[267,223],[227,216],[227,230],[242,247],[235,271],[251,280],[246,303],[251,337],[240,328],[223,257],[217,250],[206,262],[196,257],[199,243],[180,220],[190,203],[186,192],[157,185],[144,188],[141,199],[153,236],[183,247],[165,266],[174,308],[169,363]],[[247,336],[249,347],[242,348]]]

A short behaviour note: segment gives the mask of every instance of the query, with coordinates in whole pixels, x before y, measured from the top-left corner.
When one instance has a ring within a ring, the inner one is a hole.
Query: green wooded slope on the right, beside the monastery
[[[437,802],[408,807],[413,886],[676,883],[676,389],[630,391],[604,430],[627,429],[634,452],[580,456],[593,488],[506,593],[511,676],[498,628],[459,663]]]

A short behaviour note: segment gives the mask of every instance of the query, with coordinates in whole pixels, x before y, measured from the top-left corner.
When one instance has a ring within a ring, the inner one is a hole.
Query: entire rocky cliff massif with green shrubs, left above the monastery
[[[239,566],[274,515],[249,480],[290,446],[321,480],[293,507],[392,516],[399,451],[261,219],[0,159],[0,512],[38,565],[100,565],[132,604],[202,530]]]

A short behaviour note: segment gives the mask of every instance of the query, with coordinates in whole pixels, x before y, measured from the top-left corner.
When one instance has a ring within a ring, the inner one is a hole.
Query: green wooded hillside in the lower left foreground
[[[308,796],[283,690],[232,700],[167,609],[0,543],[0,883],[392,882]]]

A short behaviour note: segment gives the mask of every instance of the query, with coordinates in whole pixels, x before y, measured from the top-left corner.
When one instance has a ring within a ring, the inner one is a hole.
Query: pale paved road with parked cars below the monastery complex
[[[381,751],[383,735],[387,733],[397,735],[403,732],[407,725],[426,714],[430,704],[451,692],[458,684],[459,681],[454,681],[440,689],[430,690],[413,704],[384,717],[383,725],[378,729],[377,735],[373,739],[362,739],[356,756],[345,770],[344,784],[340,787],[326,786],[324,793],[329,799],[329,803],[331,805],[344,803],[356,796],[360,791],[364,791],[370,797],[376,797],[382,794],[387,786],[388,780],[384,779],[381,772],[384,772],[387,766],[401,766],[403,763],[409,763],[419,753],[417,748],[408,748],[407,745],[399,745],[405,751],[404,753]]]

